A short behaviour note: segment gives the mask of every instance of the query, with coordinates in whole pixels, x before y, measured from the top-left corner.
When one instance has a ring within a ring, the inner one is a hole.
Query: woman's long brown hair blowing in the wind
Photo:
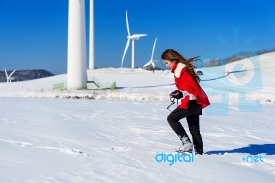
[[[184,58],[184,56],[181,56],[181,54],[179,54],[175,50],[168,49],[162,53],[162,60],[171,61],[171,62],[176,61],[178,63],[184,63],[184,65],[186,65],[189,72],[192,74],[193,78],[195,78],[195,80],[197,80],[197,83],[200,82],[201,79],[195,72],[195,68],[197,68],[197,67],[192,65],[193,62],[199,60],[199,56],[186,59],[186,58]]]

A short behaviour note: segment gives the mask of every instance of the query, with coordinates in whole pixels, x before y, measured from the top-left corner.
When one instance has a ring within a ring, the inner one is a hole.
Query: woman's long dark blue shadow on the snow
[[[248,147],[225,151],[208,151],[207,154],[248,153],[250,155],[275,155],[275,144],[249,144]]]

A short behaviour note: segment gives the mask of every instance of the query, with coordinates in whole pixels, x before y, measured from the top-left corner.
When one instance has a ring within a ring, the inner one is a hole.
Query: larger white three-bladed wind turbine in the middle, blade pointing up
[[[142,37],[142,36],[148,36],[148,35],[147,34],[133,34],[133,35],[130,34],[127,10],[126,10],[126,26],[127,26],[127,32],[128,32],[128,36],[127,36],[128,40],[127,40],[127,43],[126,43],[124,54],[122,56],[121,67],[123,65],[125,54],[126,54],[126,52],[128,50],[128,47],[130,45],[130,41],[132,41],[132,69],[133,69],[135,67],[135,40],[139,40],[140,37]]]

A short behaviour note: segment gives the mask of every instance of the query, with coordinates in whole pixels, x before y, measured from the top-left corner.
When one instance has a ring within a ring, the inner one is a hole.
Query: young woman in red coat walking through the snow
[[[181,103],[170,113],[167,121],[181,140],[181,147],[175,149],[176,152],[192,152],[193,146],[196,154],[203,154],[203,141],[199,130],[199,115],[204,107],[210,105],[206,93],[199,85],[192,62],[197,61],[197,57],[186,59],[175,50],[166,50],[162,53],[162,60],[166,67],[171,69],[175,76],[175,85],[182,92]],[[193,144],[188,137],[184,127],[179,120],[186,118]]]

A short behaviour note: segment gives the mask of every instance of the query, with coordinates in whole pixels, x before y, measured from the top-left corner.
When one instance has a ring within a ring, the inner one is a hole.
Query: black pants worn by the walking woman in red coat
[[[201,114],[201,105],[198,105],[196,100],[190,100],[188,109],[177,108],[167,117],[170,127],[172,127],[177,136],[186,136],[188,138],[184,127],[179,122],[182,118],[186,118],[195,149],[200,151],[203,149],[201,132],[199,131],[199,115]]]

